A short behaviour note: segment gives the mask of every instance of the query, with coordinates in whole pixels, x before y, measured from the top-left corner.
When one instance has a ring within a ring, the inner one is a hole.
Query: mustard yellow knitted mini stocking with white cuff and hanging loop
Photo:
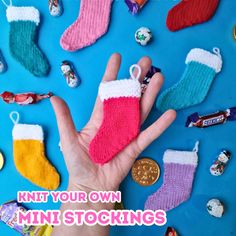
[[[15,114],[16,119],[13,117]],[[12,112],[10,117],[15,124],[12,135],[16,169],[37,186],[47,190],[56,190],[60,184],[60,176],[45,157],[42,127],[18,124],[17,112]]]

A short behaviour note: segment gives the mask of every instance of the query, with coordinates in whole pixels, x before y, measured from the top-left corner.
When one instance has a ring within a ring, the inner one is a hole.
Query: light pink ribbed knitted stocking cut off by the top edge
[[[77,20],[63,33],[60,43],[67,51],[93,44],[106,33],[112,0],[81,0]]]

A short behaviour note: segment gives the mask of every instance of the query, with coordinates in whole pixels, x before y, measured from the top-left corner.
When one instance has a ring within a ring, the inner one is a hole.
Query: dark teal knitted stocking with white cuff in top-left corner
[[[36,45],[39,11],[34,7],[9,6],[7,20],[10,23],[12,56],[35,76],[47,75],[48,61]]]

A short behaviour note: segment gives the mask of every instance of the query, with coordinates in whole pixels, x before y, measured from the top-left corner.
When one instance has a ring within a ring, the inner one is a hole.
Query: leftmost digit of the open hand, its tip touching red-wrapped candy
[[[71,145],[76,141],[77,132],[67,104],[59,97],[50,99],[53,106],[62,146]]]

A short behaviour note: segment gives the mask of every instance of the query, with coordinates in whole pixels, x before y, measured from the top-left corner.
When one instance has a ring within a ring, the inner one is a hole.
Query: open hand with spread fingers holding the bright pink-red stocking
[[[109,59],[102,81],[117,78],[121,56],[113,54]],[[151,66],[151,60],[143,57],[139,62],[142,73],[140,82],[144,79]],[[146,120],[163,84],[163,76],[156,73],[151,79],[147,90],[140,99],[142,123]],[[151,126],[142,131],[123,151],[104,165],[98,165],[89,157],[89,144],[96,135],[103,119],[103,104],[96,99],[93,113],[87,125],[77,132],[66,103],[59,97],[52,97],[57,124],[60,133],[62,152],[69,172],[70,183],[83,191],[116,191],[126,177],[138,155],[175,120],[176,112],[165,112]],[[105,147],[104,147],[105,148]]]

